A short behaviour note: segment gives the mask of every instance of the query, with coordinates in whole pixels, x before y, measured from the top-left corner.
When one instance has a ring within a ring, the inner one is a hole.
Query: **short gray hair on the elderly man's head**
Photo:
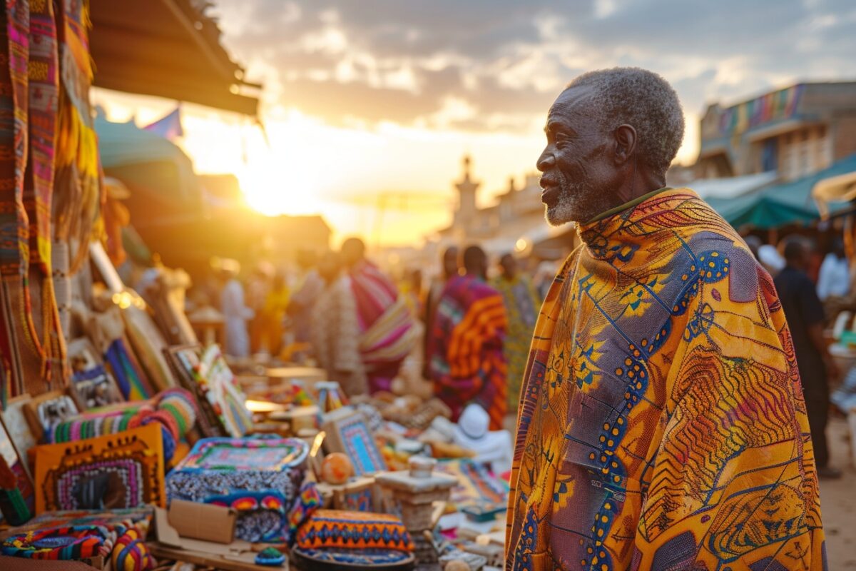
[[[669,82],[647,69],[611,68],[582,74],[566,89],[583,86],[595,91],[601,126],[632,125],[639,158],[664,175],[684,138],[681,101]]]

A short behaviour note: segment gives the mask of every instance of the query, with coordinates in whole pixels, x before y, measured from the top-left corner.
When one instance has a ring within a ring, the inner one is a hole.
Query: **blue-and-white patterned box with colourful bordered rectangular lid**
[[[309,447],[296,438],[203,438],[166,479],[169,500],[204,502],[236,491],[294,499]]]

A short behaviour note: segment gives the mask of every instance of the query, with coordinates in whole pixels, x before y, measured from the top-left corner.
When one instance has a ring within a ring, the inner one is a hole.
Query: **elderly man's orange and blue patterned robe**
[[[580,237],[526,367],[506,568],[826,568],[769,274],[687,188],[609,211]]]

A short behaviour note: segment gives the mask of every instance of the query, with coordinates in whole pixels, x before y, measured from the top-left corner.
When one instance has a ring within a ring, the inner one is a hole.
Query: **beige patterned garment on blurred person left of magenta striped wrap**
[[[312,348],[331,381],[348,396],[368,394],[360,354],[360,324],[351,280],[339,277],[312,306]]]

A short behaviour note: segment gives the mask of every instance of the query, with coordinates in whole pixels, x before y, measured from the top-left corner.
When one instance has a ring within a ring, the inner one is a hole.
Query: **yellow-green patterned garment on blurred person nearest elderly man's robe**
[[[532,343],[532,331],[538,319],[538,307],[541,300],[532,286],[532,280],[517,275],[513,279],[496,277],[490,282],[505,300],[505,313],[508,316],[508,335],[505,336],[505,360],[508,361],[508,407],[517,410],[520,401],[520,385],[526,372],[526,360],[529,357],[529,345]]]

